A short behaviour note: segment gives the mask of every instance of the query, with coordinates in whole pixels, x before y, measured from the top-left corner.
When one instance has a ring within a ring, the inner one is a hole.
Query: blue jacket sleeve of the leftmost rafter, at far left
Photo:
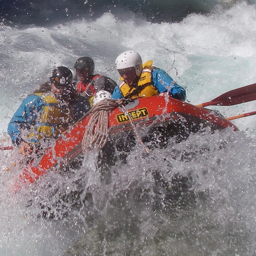
[[[23,141],[20,137],[20,130],[35,124],[37,113],[43,108],[43,105],[43,100],[37,95],[30,95],[23,100],[7,128],[12,143],[19,145]]]

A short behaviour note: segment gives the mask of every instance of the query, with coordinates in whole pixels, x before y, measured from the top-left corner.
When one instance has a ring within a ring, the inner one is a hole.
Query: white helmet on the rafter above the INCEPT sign
[[[122,52],[116,58],[116,69],[125,69],[127,67],[135,67],[136,75],[140,76],[142,73],[142,59],[138,52],[133,50]]]

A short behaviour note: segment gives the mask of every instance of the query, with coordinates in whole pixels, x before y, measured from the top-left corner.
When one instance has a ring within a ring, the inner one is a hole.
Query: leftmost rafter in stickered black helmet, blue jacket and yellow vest
[[[47,146],[49,138],[57,138],[73,119],[70,104],[76,96],[72,73],[67,67],[52,71],[49,82],[23,100],[8,125],[12,143],[24,156]]]

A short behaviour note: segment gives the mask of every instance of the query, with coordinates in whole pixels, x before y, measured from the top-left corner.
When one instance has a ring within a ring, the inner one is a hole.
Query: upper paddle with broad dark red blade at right
[[[235,90],[230,90],[227,93],[221,94],[215,99],[212,99],[209,102],[205,102],[197,107],[206,107],[210,105],[222,105],[222,106],[231,106],[244,102],[250,102],[256,100],[256,84],[250,84],[244,87],[237,88]]]

